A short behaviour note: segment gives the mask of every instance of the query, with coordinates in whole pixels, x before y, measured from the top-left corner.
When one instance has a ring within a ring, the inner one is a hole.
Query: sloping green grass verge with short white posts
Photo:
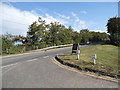
[[[80,59],[76,59],[76,55],[62,57],[65,62],[79,65],[82,68],[91,68],[101,70],[108,73],[118,73],[118,47],[113,45],[95,45],[81,48]],[[70,54],[71,51],[65,52]],[[92,64],[92,55],[96,54],[96,65]]]

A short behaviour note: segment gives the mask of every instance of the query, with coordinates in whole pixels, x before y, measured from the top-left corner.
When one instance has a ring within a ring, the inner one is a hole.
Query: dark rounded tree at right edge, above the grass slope
[[[110,18],[106,26],[107,31],[110,34],[110,40],[112,44],[120,46],[120,18]]]

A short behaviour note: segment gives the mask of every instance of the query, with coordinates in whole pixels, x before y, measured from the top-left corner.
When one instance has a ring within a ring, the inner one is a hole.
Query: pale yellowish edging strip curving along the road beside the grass
[[[88,76],[91,76],[91,77],[94,77],[94,78],[97,78],[97,79],[102,79],[102,80],[106,80],[106,81],[111,81],[111,82],[115,82],[115,83],[118,83],[118,79],[115,79],[115,78],[112,78],[112,77],[108,77],[108,76],[100,76],[100,75],[97,75],[93,72],[86,72],[86,71],[83,71],[83,70],[78,70],[74,67],[70,67],[70,66],[67,66],[65,64],[62,64],[64,62],[59,62],[59,60],[57,60],[55,57],[53,57],[52,61],[57,64],[58,66],[60,66],[61,68],[64,68],[64,69],[67,69],[67,70],[70,70],[70,71],[74,71],[74,72],[77,72],[77,73],[82,73],[82,74],[85,74],[85,75],[88,75]]]

